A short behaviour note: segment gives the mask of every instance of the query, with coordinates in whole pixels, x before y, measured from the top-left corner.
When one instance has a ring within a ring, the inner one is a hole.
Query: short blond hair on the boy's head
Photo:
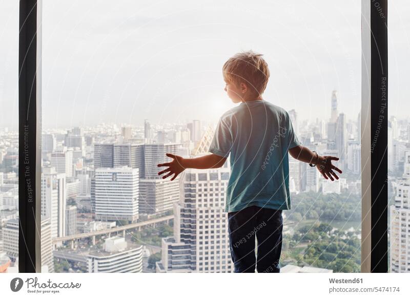
[[[270,72],[268,63],[262,54],[252,50],[240,52],[229,58],[222,67],[223,78],[239,86],[241,82],[248,85],[251,92],[262,94],[268,84]]]

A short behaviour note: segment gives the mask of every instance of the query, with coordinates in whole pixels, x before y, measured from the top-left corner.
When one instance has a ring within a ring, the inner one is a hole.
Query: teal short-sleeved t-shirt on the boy
[[[300,144],[288,112],[266,100],[242,102],[224,113],[209,152],[230,155],[225,211],[290,209],[288,150]]]

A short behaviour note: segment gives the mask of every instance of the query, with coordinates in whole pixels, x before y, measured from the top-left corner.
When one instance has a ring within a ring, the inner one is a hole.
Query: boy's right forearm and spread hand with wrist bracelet
[[[316,168],[319,170],[320,174],[322,174],[324,179],[330,178],[332,181],[334,181],[332,176],[334,176],[336,179],[339,179],[339,177],[336,175],[335,172],[333,172],[333,170],[342,174],[341,169],[339,169],[338,167],[332,164],[332,160],[339,160],[338,157],[321,156],[321,155],[316,156],[316,154],[312,152],[308,147],[305,147],[302,145],[298,145],[296,147],[290,148],[289,154],[294,159],[297,159],[303,162],[316,164]]]

